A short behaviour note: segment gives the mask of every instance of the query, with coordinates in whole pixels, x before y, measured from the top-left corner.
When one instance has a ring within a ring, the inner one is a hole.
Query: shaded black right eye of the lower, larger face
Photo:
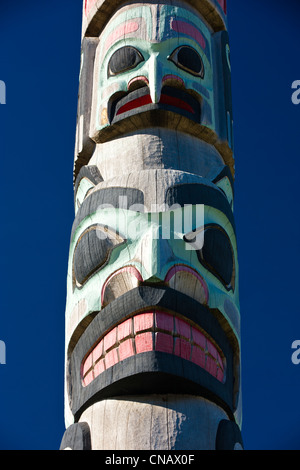
[[[193,237],[195,234],[191,232],[186,235],[185,242],[195,244],[195,236]],[[216,276],[227,289],[234,289],[235,262],[227,233],[218,225],[208,225],[204,228],[203,241],[201,249],[197,249],[195,244],[199,262]]]

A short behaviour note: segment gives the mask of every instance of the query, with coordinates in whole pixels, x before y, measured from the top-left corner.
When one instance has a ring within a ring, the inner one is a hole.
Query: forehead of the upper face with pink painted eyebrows
[[[200,15],[183,3],[137,3],[121,8],[106,25],[100,39],[104,54],[112,44],[129,37],[157,43],[183,35],[206,50],[209,34]]]

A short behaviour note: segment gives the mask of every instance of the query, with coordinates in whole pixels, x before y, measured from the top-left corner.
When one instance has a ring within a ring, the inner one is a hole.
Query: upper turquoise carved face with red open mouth
[[[193,10],[163,4],[122,8],[100,36],[94,138],[101,141],[109,126],[153,109],[213,129],[212,60],[211,33]]]

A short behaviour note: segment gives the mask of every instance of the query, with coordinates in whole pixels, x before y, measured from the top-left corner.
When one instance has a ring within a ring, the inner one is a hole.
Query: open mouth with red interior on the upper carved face
[[[160,101],[153,104],[148,86],[127,93],[125,96],[113,99],[108,107],[111,124],[137,113],[154,110],[172,111],[200,122],[200,103],[185,90],[171,86],[162,88]]]

